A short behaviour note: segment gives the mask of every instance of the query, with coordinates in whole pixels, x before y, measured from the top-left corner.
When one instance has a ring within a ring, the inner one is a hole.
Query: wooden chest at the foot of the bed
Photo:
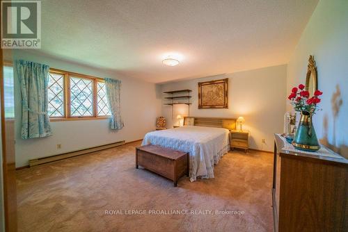
[[[139,165],[171,179],[175,187],[181,176],[189,176],[189,154],[157,145],[136,147],[136,168]]]

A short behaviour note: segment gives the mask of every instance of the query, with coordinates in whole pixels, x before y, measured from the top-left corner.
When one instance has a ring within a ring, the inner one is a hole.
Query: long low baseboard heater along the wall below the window
[[[81,156],[81,155],[92,153],[92,152],[95,152],[95,151],[101,151],[101,150],[109,149],[109,148],[112,148],[112,147],[118,147],[118,146],[121,146],[121,145],[124,145],[124,144],[125,144],[125,140],[122,140],[120,142],[113,142],[113,143],[110,143],[110,144],[104,144],[104,145],[97,146],[97,147],[89,147],[89,148],[81,149],[81,150],[77,150],[77,151],[70,151],[70,152],[67,152],[67,153],[58,154],[58,155],[54,155],[54,156],[47,156],[47,157],[43,157],[43,158],[35,158],[33,160],[29,160],[29,166],[33,167],[33,166],[36,166],[36,165],[42,165],[44,163],[50,163],[50,162],[54,162],[54,161],[57,161],[57,160],[63,160],[65,158],[71,158],[71,157],[74,157],[74,156]]]

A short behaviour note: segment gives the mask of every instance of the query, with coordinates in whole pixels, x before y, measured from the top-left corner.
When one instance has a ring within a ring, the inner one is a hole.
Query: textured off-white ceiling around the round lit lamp
[[[153,83],[285,64],[317,0],[42,1],[42,53]],[[182,54],[180,65],[161,63]]]

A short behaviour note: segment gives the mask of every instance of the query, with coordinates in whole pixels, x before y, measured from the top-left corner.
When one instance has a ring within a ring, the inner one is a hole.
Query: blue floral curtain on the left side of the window
[[[52,135],[47,115],[49,66],[17,60],[16,68],[22,95],[22,138]]]

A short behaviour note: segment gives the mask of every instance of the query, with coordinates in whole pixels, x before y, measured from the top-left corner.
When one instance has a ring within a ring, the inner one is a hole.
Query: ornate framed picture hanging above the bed
[[[198,108],[228,108],[228,78],[198,82]]]

